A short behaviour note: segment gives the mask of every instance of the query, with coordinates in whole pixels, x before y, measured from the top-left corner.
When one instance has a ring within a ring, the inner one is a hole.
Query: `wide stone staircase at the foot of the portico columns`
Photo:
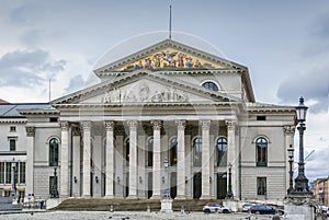
[[[200,199],[174,199],[172,208],[174,211],[201,211],[205,202],[209,200]],[[222,200],[212,200],[222,202]],[[69,211],[160,211],[159,199],[106,199],[106,198],[68,198],[52,210]]]

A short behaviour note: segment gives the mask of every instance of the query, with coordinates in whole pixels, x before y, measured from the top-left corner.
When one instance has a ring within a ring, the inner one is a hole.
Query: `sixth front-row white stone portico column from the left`
[[[178,141],[178,151],[177,151],[177,198],[183,199],[186,198],[185,195],[185,120],[177,121],[177,141]]]

